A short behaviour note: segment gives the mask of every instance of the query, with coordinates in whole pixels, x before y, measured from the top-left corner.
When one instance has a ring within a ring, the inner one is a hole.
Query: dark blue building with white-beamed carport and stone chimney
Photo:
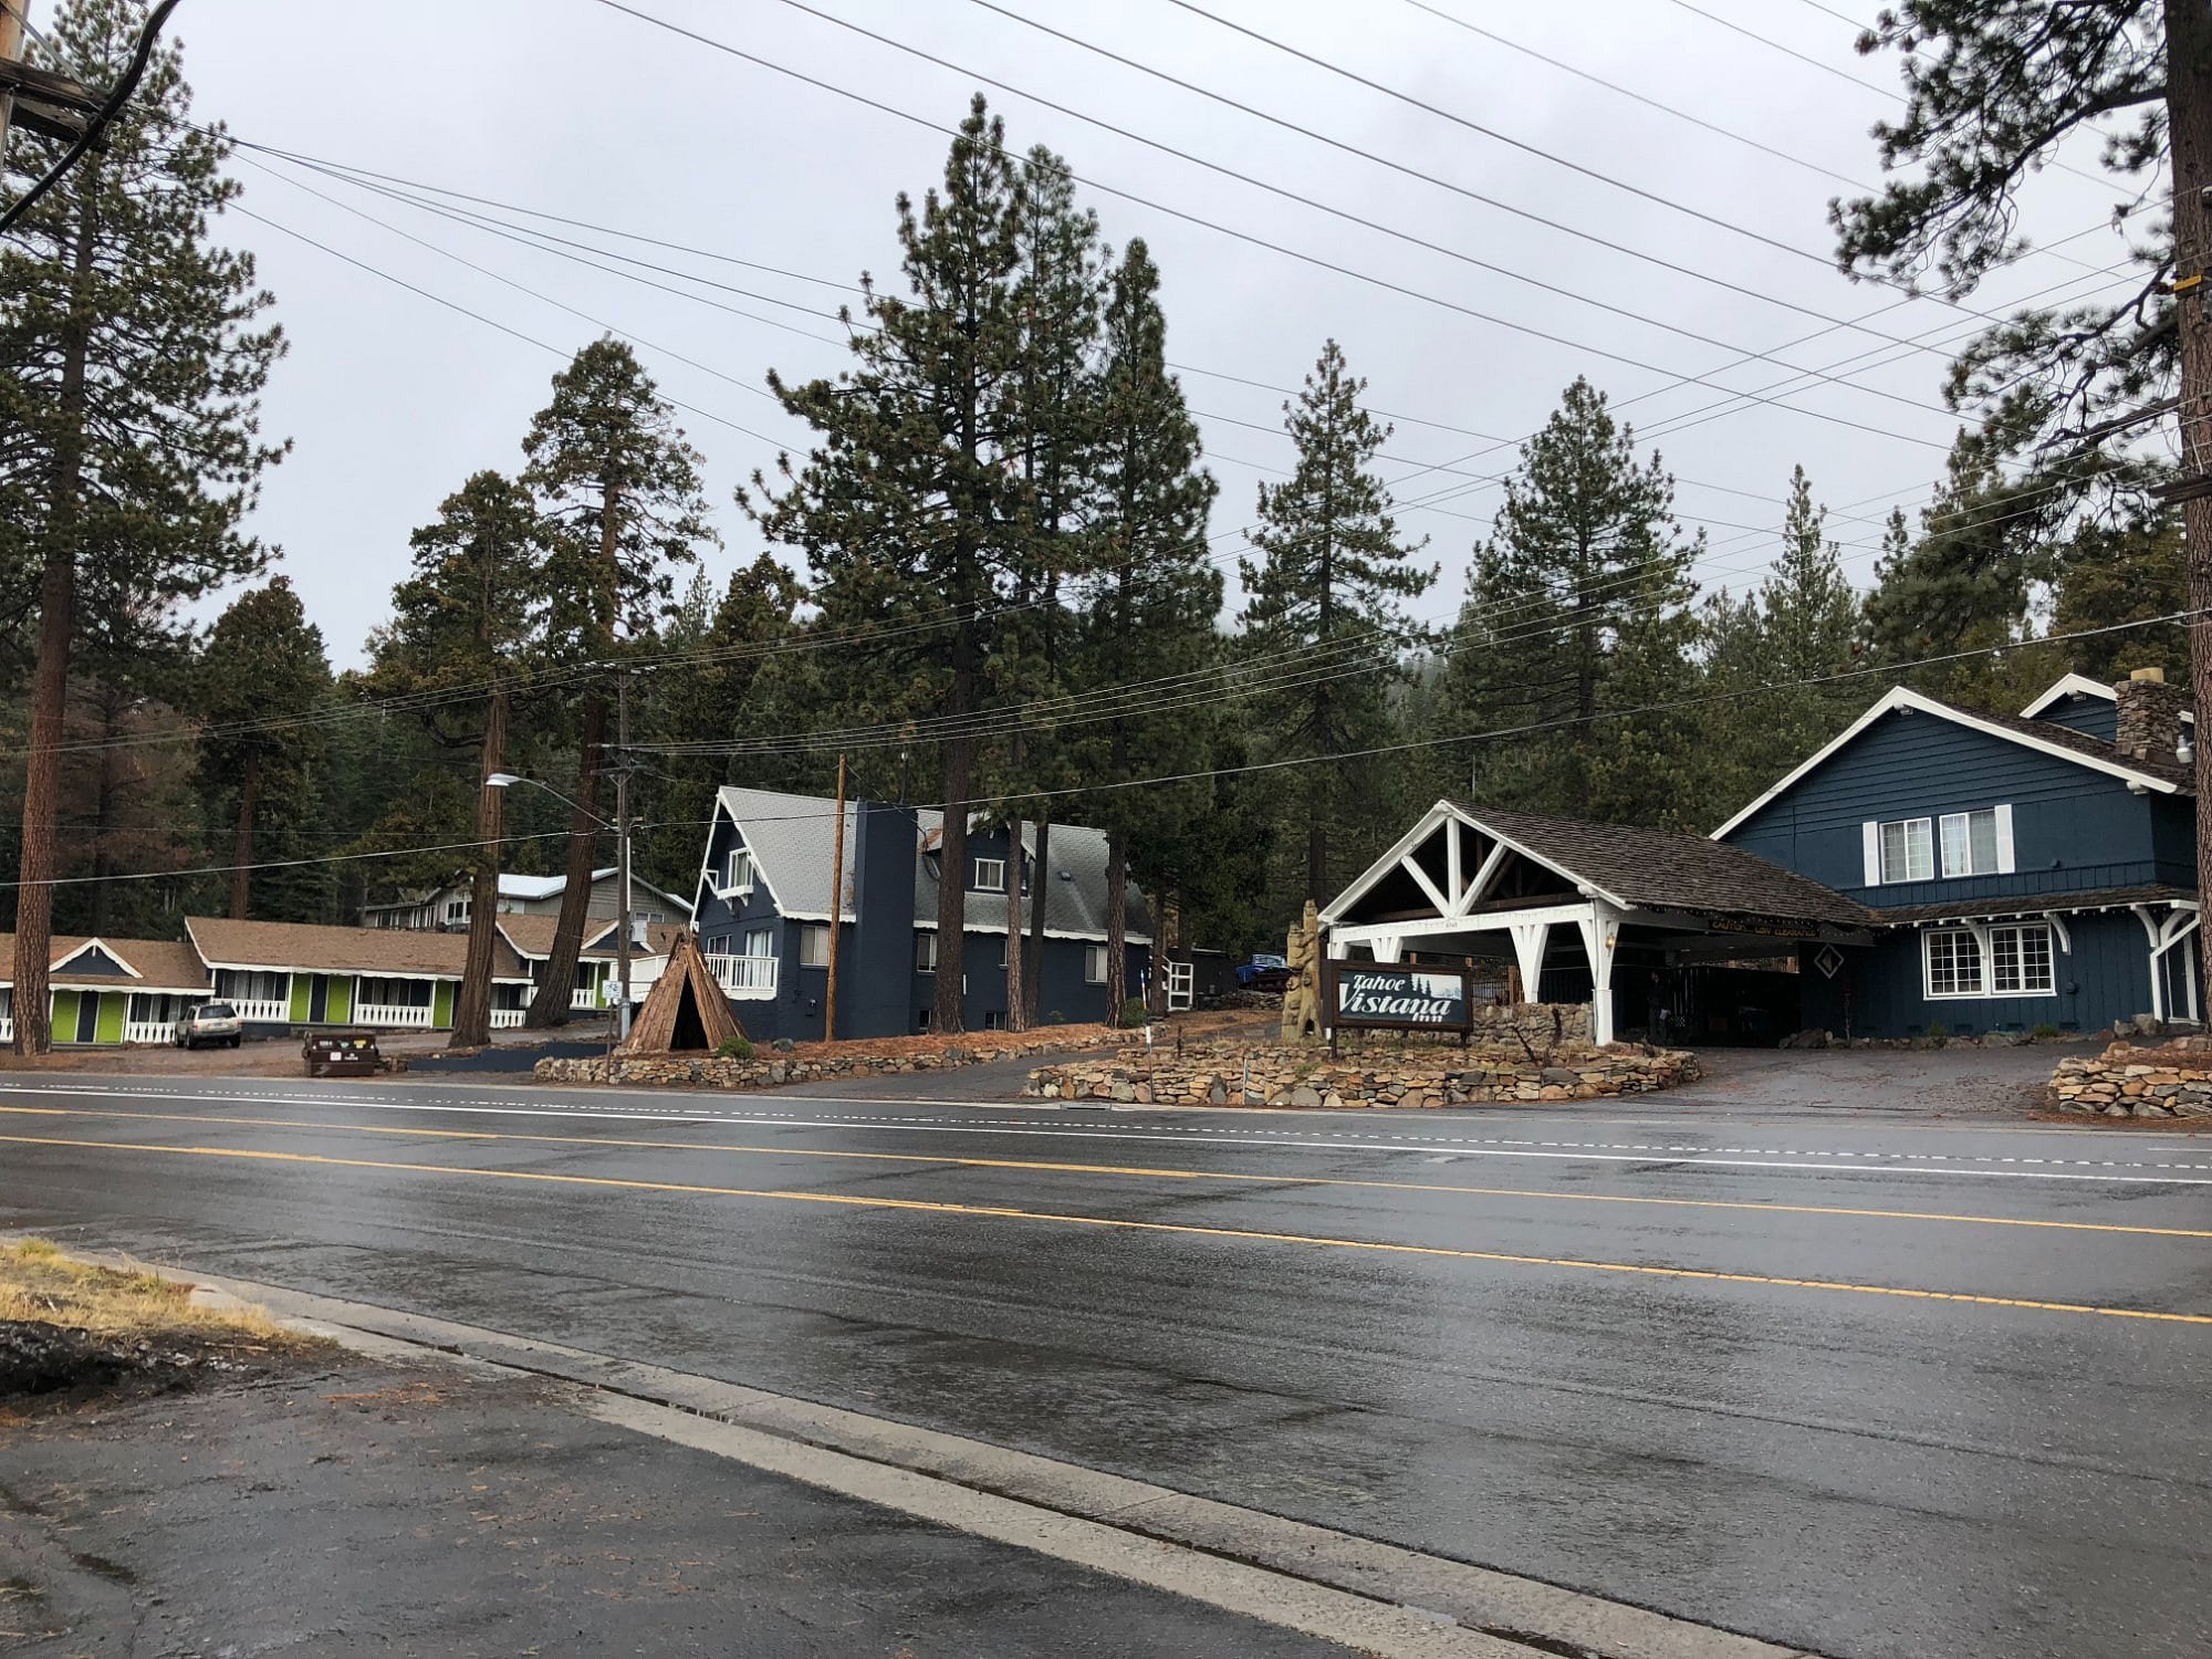
[[[1898,688],[1712,836],[1440,801],[1323,920],[1338,958],[1506,960],[1599,1042],[2201,1024],[2192,743],[2152,675]]]

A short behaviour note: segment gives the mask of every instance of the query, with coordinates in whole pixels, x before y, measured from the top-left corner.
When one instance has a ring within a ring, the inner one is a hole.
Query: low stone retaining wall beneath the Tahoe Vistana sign
[[[1248,1068],[1250,1066],[1250,1068]],[[1329,1060],[1323,1048],[1230,1044],[1071,1060],[1029,1073],[1044,1099],[1157,1106],[1467,1106],[1498,1099],[1599,1099],[1690,1082],[1697,1055],[1679,1048],[1559,1046],[1531,1060],[1517,1044],[1473,1048],[1391,1044]]]

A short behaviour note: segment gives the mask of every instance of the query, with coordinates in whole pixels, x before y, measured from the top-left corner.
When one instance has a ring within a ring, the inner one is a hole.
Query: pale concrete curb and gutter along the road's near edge
[[[86,1256],[97,1259],[97,1256]],[[131,1263],[144,1270],[144,1263]],[[157,1270],[164,1272],[164,1270]],[[166,1270],[316,1334],[595,1389],[624,1427],[1394,1659],[1818,1659],[1663,1613],[690,1371],[367,1303]],[[1210,1566],[1201,1573],[1190,1557]],[[1254,1577],[1256,1575],[1256,1577]],[[1336,1606],[1327,1597],[1352,1597]],[[1321,1597],[1321,1599],[1316,1599]],[[1380,1617],[1380,1615],[1391,1617]],[[1307,1624],[1312,1619],[1314,1624]],[[1449,1646],[1440,1646],[1449,1644]]]

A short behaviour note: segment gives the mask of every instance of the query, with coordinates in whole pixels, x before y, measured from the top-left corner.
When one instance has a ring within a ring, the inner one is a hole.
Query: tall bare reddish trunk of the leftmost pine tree
[[[22,860],[15,889],[15,1053],[53,1048],[46,958],[53,951],[55,821],[62,796],[62,723],[69,712],[69,641],[77,611],[77,518],[84,491],[84,361],[91,354],[86,285],[100,237],[100,164],[86,166],[77,223],[75,292],[62,338],[62,429],[46,507],[46,568],[38,584],[38,668],[31,675],[31,743],[22,774]]]

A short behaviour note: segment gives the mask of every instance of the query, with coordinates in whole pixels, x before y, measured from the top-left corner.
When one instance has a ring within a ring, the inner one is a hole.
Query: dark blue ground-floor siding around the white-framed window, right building
[[[2035,998],[1924,995],[1920,929],[1911,927],[1885,933],[1871,949],[1843,951],[1845,967],[1834,980],[1814,964],[1818,947],[1807,947],[1805,1024],[1854,1037],[1924,1037],[1938,1026],[1953,1037],[1978,1037],[2039,1024],[2090,1033],[2150,1013],[2150,942],[2130,911],[2068,916],[2066,931],[2073,951],[2059,947],[2053,956],[2055,993]]]

